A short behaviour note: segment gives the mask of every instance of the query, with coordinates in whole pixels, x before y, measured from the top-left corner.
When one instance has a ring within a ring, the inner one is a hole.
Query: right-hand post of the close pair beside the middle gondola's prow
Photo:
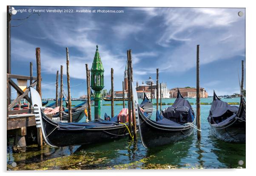
[[[128,64],[129,69],[130,69],[130,82],[133,82],[133,70],[132,70],[132,59],[131,59],[131,50],[129,50],[129,62]],[[134,130],[134,139],[137,137],[137,126],[136,126],[136,116],[135,116],[135,110],[134,110],[134,96],[133,96],[133,89],[131,88],[130,84],[130,89],[131,89],[131,112],[132,112],[132,124],[133,124],[133,130]],[[137,93],[137,92],[135,92]]]

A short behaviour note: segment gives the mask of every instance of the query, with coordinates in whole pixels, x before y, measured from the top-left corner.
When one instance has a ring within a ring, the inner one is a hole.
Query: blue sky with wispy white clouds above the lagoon
[[[149,76],[156,80],[158,68],[159,81],[166,82],[169,89],[196,87],[196,45],[199,44],[200,87],[209,95],[213,95],[213,89],[218,95],[239,93],[241,60],[245,60],[245,8],[14,8],[26,9],[26,12],[12,15],[11,73],[29,75],[29,62],[33,62],[36,75],[35,48],[40,47],[42,98],[55,97],[56,72],[60,71],[60,65],[63,65],[67,94],[65,47],[69,49],[71,97],[86,94],[85,63],[90,69],[96,45],[105,70],[104,89],[111,88],[113,68],[114,90],[122,90],[129,49],[135,82],[141,84]],[[54,9],[63,11],[46,11]],[[45,11],[33,14],[36,10]],[[85,10],[91,12],[81,12]],[[239,16],[239,11],[244,15]],[[15,96],[16,93],[12,93],[12,98]]]

